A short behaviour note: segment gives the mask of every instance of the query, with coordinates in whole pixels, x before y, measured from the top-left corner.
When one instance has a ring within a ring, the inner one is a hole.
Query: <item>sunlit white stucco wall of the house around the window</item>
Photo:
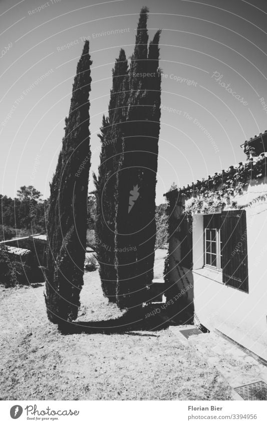
[[[222,283],[222,273],[203,269],[203,213],[193,214],[193,267],[187,276],[193,285],[188,302],[208,329],[218,329],[231,339],[267,360],[267,184],[262,179],[249,182],[242,195],[232,197],[236,209],[246,210],[248,293]],[[261,197],[261,198],[260,198]],[[187,198],[188,199],[188,198]],[[185,200],[192,204],[192,198]],[[232,209],[226,207],[225,209]],[[176,218],[184,209],[175,210]],[[220,211],[219,211],[220,212]],[[206,213],[214,213],[213,211]],[[181,290],[184,279],[178,269],[179,232],[170,237],[169,280]],[[240,235],[241,237],[242,235]],[[178,267],[178,268],[177,268]]]

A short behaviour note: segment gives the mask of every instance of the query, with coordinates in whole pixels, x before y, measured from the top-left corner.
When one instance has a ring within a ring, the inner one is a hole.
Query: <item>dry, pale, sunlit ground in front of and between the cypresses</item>
[[[0,288],[3,399],[217,399],[230,397],[214,367],[169,329],[62,335],[46,316],[44,287]],[[121,316],[86,273],[79,320]]]

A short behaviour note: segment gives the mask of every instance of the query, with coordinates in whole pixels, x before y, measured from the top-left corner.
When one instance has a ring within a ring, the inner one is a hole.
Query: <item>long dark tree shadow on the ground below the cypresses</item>
[[[154,303],[134,311],[129,310],[116,319],[76,322],[64,321],[59,324],[58,328],[63,334],[118,334],[131,332],[131,335],[151,336],[136,331],[156,332],[167,329],[170,325],[177,326],[183,324],[193,324],[193,317],[188,312],[181,310],[173,317],[168,313],[168,310],[162,310],[161,303]]]

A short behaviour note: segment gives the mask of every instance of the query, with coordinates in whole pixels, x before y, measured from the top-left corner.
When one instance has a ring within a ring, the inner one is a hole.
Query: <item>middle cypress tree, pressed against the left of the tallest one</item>
[[[116,302],[117,272],[115,268],[115,186],[117,169],[122,152],[122,129],[124,80],[128,76],[128,62],[121,49],[112,70],[109,116],[103,117],[101,134],[102,147],[98,180],[95,177],[97,197],[97,217],[95,223],[96,252],[99,274],[104,295]]]

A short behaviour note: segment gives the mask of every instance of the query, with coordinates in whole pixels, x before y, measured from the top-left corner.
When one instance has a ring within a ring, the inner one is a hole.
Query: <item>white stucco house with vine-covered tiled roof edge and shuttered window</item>
[[[165,194],[165,279],[207,329],[267,360],[267,132],[241,146],[244,162]]]

